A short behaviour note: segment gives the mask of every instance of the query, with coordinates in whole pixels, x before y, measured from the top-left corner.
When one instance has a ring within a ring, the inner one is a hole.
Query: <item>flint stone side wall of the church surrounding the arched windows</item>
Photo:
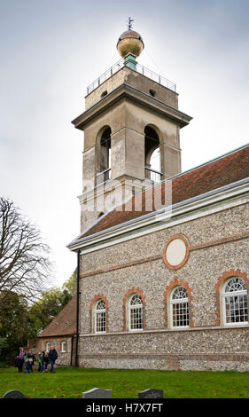
[[[249,327],[222,328],[222,322],[217,324],[220,301],[215,289],[226,271],[239,270],[249,278],[248,218],[249,205],[244,204],[83,255],[81,273],[89,276],[82,277],[80,284],[80,365],[248,371]],[[177,233],[186,236],[191,247],[206,248],[191,250],[187,263],[170,271],[163,262],[163,248]],[[226,239],[230,241],[217,243]],[[210,244],[212,241],[216,244]],[[136,264],[157,255],[161,257]],[[114,269],[99,271],[108,268]],[[169,327],[164,293],[173,282],[184,282],[190,288],[191,328],[186,330]],[[134,287],[144,294],[143,334],[128,334],[124,327],[124,297]],[[90,303],[97,295],[105,296],[108,304],[108,334],[90,336],[94,331]],[[141,357],[141,352],[147,356]]]

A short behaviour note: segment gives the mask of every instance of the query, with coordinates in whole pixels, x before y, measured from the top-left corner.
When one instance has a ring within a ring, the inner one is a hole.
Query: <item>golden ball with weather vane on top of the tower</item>
[[[117,43],[117,50],[122,58],[127,57],[129,53],[139,57],[144,49],[142,36],[132,29],[131,20],[128,18],[128,30],[122,33]]]

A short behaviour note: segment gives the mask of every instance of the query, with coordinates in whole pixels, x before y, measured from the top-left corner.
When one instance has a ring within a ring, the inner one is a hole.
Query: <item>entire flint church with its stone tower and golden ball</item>
[[[249,146],[182,172],[175,84],[141,66],[129,22],[121,60],[85,111],[76,362],[249,371]],[[75,342],[74,342],[75,343]]]

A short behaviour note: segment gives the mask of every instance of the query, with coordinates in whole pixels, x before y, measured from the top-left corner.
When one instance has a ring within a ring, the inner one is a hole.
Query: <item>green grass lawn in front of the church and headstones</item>
[[[0,369],[0,397],[19,389],[30,398],[80,398],[92,388],[112,389],[113,398],[137,398],[147,388],[165,398],[249,398],[249,373],[146,369],[56,368],[56,374],[18,374]]]

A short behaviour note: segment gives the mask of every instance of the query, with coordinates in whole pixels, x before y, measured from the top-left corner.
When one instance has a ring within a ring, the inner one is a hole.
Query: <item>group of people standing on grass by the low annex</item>
[[[54,347],[51,347],[49,352],[39,352],[37,359],[35,358],[34,353],[31,350],[27,352],[23,348],[19,348],[19,354],[16,357],[16,362],[18,366],[18,372],[22,373],[23,366],[25,365],[25,374],[33,373],[33,366],[35,361],[38,364],[38,372],[48,372],[48,366],[51,365],[51,373],[54,374],[54,365],[55,361],[58,358],[57,350]]]

